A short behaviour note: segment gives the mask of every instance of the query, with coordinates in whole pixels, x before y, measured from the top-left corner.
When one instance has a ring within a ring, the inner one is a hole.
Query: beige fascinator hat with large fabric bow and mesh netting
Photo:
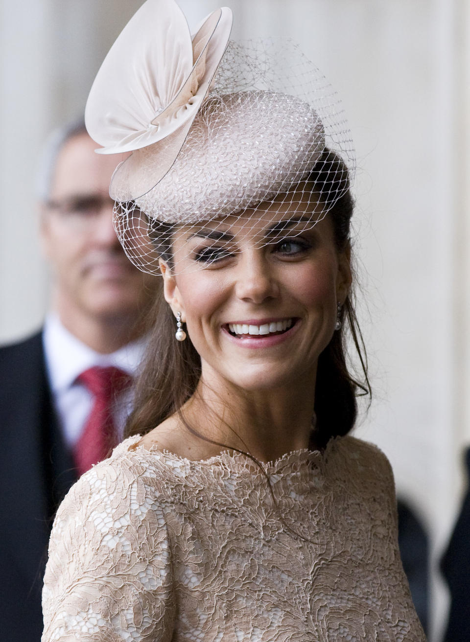
[[[159,272],[178,230],[214,230],[247,211],[253,222],[257,207],[266,221],[270,204],[286,202],[302,202],[311,225],[349,187],[353,144],[324,76],[292,42],[229,44],[231,26],[221,8],[191,36],[174,0],[147,0],[92,85],[85,122],[96,151],[132,152],[110,196],[119,239],[144,272]],[[344,171],[335,180],[330,150]]]

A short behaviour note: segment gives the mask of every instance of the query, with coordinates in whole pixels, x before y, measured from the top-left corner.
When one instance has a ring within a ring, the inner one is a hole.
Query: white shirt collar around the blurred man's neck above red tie
[[[42,334],[44,353],[51,389],[57,393],[71,386],[76,377],[92,366],[115,366],[131,376],[135,374],[144,354],[146,338],[130,342],[116,352],[101,354],[82,343],[50,313]]]

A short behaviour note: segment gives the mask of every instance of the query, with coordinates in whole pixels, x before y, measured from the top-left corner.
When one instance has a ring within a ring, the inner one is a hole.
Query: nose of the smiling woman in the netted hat
[[[278,296],[279,284],[262,252],[259,254],[253,252],[241,257],[238,263],[235,292],[239,299],[256,304]]]

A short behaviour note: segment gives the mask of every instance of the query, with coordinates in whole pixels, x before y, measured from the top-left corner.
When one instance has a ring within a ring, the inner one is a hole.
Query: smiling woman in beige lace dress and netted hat
[[[43,642],[419,642],[390,465],[347,434],[369,381],[344,118],[309,65],[316,100],[292,61],[281,87],[286,50],[224,55],[230,24],[214,12],[191,40],[148,0],[91,91],[101,152],[134,150],[110,188],[121,242],[168,305],[128,437],[58,511]]]

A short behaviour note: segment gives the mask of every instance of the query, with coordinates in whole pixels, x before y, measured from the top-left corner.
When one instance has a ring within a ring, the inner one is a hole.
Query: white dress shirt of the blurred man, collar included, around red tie
[[[76,382],[76,377],[93,366],[114,366],[135,376],[146,341],[141,339],[111,354],[100,354],[69,333],[55,314],[46,318],[42,338],[55,410],[65,444],[73,448],[82,435],[93,406],[91,393],[82,383]],[[119,395],[114,408],[119,439],[123,437],[124,424],[132,410],[132,397],[132,391],[125,390]]]

